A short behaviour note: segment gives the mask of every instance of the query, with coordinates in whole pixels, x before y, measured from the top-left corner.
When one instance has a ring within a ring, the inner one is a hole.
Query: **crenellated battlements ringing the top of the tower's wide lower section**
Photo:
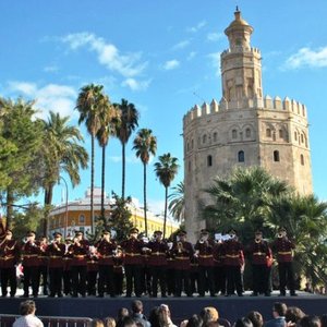
[[[186,112],[183,122],[185,126],[198,118],[213,116],[217,112],[235,110],[235,109],[243,110],[243,109],[252,109],[252,108],[257,108],[263,110],[276,110],[279,112],[289,112],[306,119],[305,105],[294,99],[290,99],[288,97],[281,100],[281,98],[278,96],[276,96],[272,99],[269,95],[266,95],[264,98],[243,99],[240,101],[229,101],[229,102],[222,98],[219,104],[216,99],[213,99],[210,104],[204,102],[202,106],[195,105]]]

